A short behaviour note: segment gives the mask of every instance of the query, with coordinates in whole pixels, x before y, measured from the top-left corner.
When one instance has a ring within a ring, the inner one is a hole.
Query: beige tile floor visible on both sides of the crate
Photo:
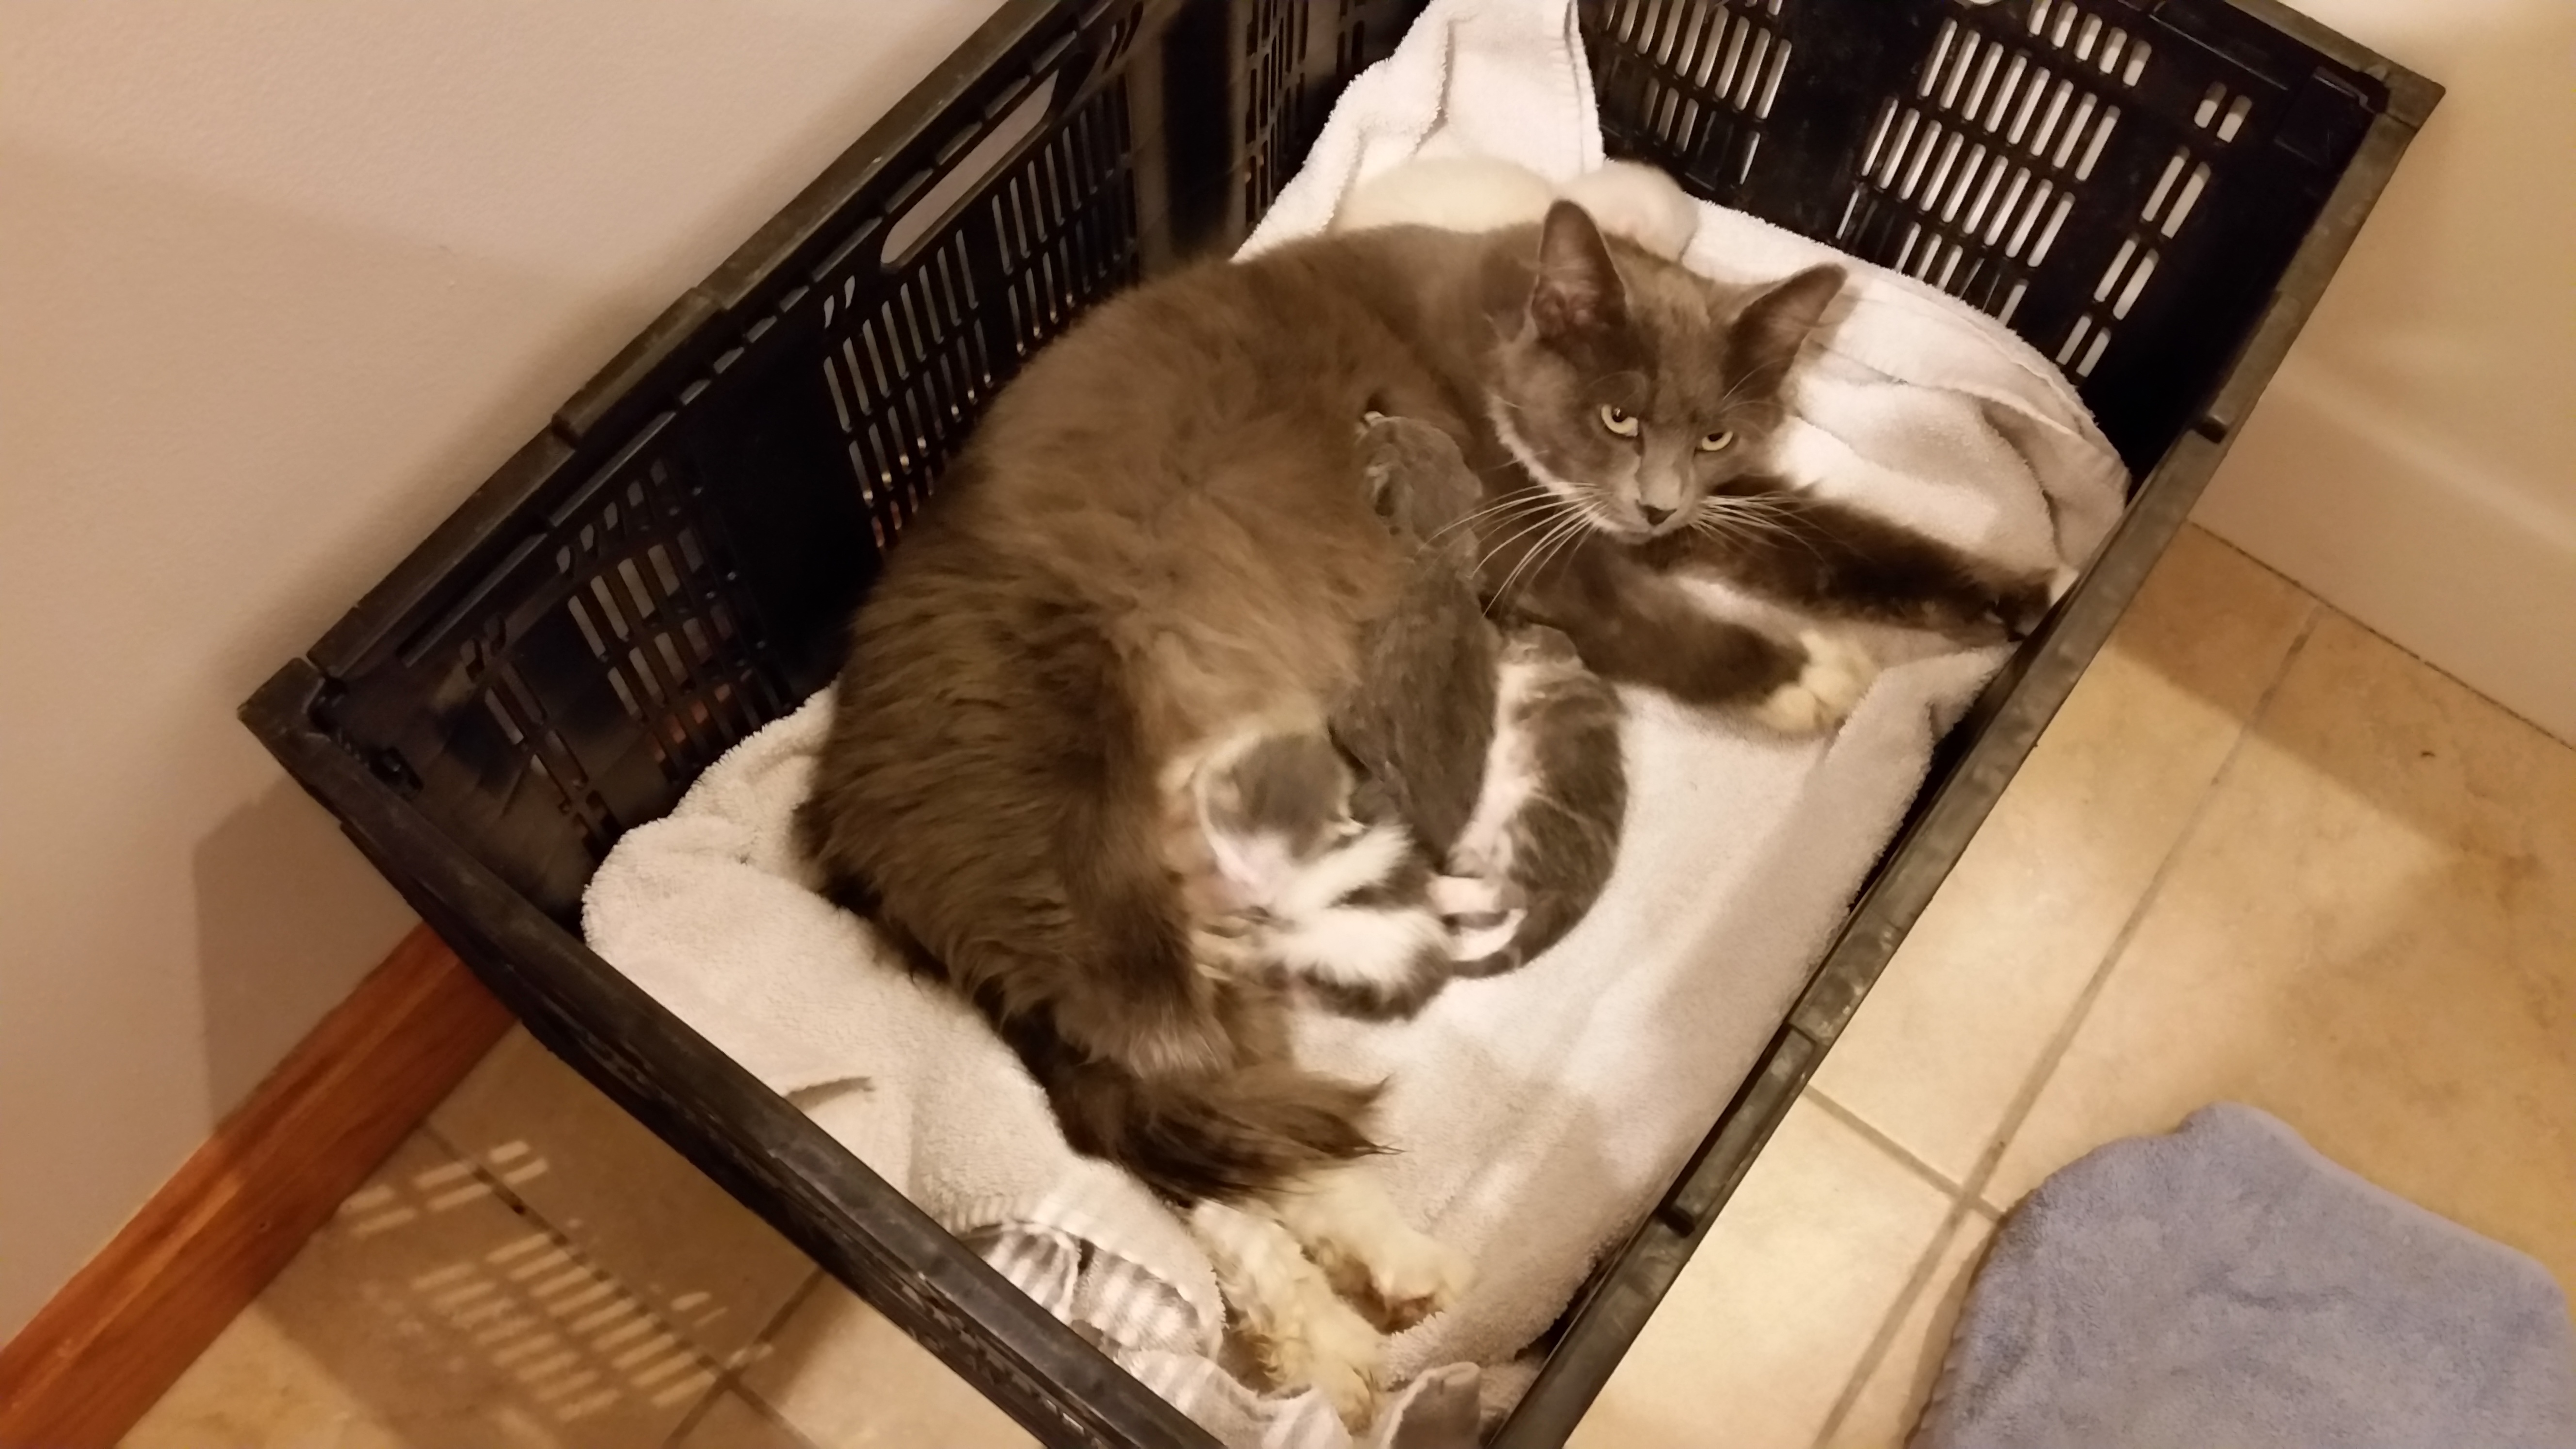
[[[2576,1287],[2576,750],[2190,531],[1577,1444],[1901,1444],[1996,1214],[2213,1098]],[[873,1444],[1028,1439],[526,1036],[126,1439]]]

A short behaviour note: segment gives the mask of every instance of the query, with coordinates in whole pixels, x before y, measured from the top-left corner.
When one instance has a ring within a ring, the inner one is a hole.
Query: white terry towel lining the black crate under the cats
[[[1600,165],[1574,8],[1432,0],[1396,54],[1352,80],[1244,250],[1321,229],[1358,178],[1417,152],[1499,155],[1553,180]],[[1752,281],[1850,258],[1708,206],[1685,260]],[[1981,315],[1850,266],[1803,369],[1790,469],[1999,562],[2089,557],[2125,474],[2056,369]],[[1314,1065],[1391,1078],[1388,1189],[1479,1263],[1466,1305],[1394,1343],[1399,1374],[1510,1359],[1564,1310],[1757,1062],[1935,740],[2002,660],[1893,632],[1870,642],[1893,663],[1832,740],[1633,694],[1620,864],[1556,951],[1461,982],[1412,1024],[1301,1021]],[[1157,1348],[1110,1333],[1110,1348],[1229,1444],[1340,1444],[1314,1395],[1247,1408],[1172,1364],[1190,1354],[1180,1341],[1213,1348],[1221,1323],[1177,1220],[1074,1158],[974,1013],[806,890],[786,822],[822,709],[770,724],[672,817],[618,843],[590,884],[592,946],[994,1261],[1028,1266],[1043,1258],[1030,1243],[1061,1235],[1164,1284],[1188,1330]],[[1105,1318],[1131,1328],[1139,1310]]]

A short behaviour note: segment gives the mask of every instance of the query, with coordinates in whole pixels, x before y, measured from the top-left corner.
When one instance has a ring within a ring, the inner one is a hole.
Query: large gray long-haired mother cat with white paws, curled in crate
[[[1618,681],[1788,730],[1832,727],[1868,683],[1842,645],[1692,608],[1669,578],[1690,567],[1971,634],[2030,611],[2038,580],[1765,472],[1839,286],[1726,289],[1574,204],[1198,266],[1030,361],[858,611],[804,815],[835,895],[994,1021],[1077,1150],[1311,1253],[1193,1220],[1270,1369],[1352,1418],[1373,1328],[1329,1284],[1396,1328],[1463,1266],[1347,1168],[1376,1088],[1303,1073],[1278,987],[1193,933],[1175,799],[1211,743],[1319,724],[1350,683],[1404,567],[1358,482],[1370,407],[1458,438],[1510,521],[1486,529],[1497,606]]]

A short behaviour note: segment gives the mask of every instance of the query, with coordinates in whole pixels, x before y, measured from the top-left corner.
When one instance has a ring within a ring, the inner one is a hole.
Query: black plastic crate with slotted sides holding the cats
[[[554,1052],[1046,1444],[1208,1444],[590,954],[580,890],[827,683],[992,389],[1244,237],[1406,0],[1018,0],[242,706]],[[2439,88],[2267,0],[1582,5],[1610,150],[1996,312],[2138,474],[1770,1052],[1561,1320],[1561,1444],[2182,526]]]

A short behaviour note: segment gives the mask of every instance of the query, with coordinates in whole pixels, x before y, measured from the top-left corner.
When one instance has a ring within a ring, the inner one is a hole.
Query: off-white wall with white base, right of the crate
[[[2293,5],[2450,95],[2197,518],[2576,743],[2576,5]]]

